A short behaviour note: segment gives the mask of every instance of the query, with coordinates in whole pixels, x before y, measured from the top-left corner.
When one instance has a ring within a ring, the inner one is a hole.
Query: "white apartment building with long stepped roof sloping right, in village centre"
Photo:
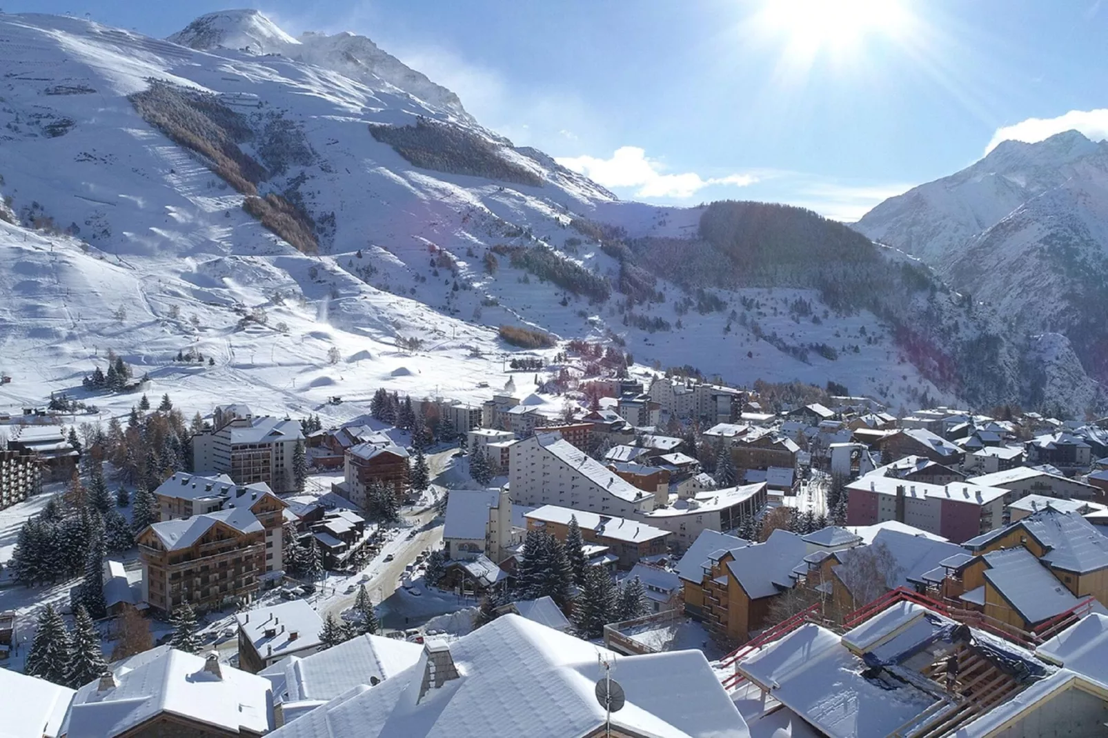
[[[558,433],[535,433],[514,444],[510,467],[517,505],[554,504],[625,517],[654,510],[654,494],[624,481]]]

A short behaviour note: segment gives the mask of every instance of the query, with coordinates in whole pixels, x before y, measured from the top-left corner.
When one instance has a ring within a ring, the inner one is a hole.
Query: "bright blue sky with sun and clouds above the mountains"
[[[789,202],[854,219],[1003,137],[1108,135],[1100,0],[388,0],[252,3],[350,30],[484,125],[659,203]],[[164,37],[208,0],[9,0]]]

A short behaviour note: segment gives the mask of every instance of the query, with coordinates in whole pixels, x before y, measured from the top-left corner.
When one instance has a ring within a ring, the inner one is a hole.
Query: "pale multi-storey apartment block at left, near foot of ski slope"
[[[213,430],[193,435],[194,469],[229,474],[237,484],[265,482],[274,492],[294,491],[293,452],[304,441],[299,421],[255,418],[245,406],[217,408],[214,418]]]

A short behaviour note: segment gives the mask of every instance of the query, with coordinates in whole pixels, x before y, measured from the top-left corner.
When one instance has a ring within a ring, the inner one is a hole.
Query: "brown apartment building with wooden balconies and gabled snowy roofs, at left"
[[[147,525],[137,536],[143,598],[165,615],[186,602],[216,607],[228,597],[253,598],[260,577],[283,567],[286,506],[261,485],[235,486],[219,510]]]

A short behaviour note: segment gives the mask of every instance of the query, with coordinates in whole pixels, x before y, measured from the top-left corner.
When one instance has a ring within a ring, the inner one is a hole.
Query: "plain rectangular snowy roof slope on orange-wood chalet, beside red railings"
[[[1065,613],[1080,602],[1027,549],[984,554],[985,580],[1028,623]]]

